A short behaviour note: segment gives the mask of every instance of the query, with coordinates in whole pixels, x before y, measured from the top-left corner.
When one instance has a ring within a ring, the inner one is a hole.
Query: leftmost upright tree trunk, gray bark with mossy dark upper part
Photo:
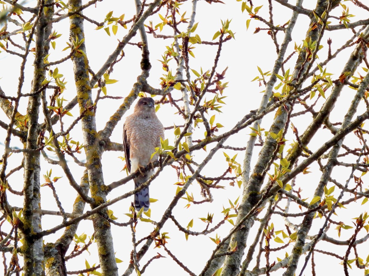
[[[45,79],[44,58],[49,51],[47,38],[51,33],[52,26],[49,20],[52,17],[53,8],[46,8],[44,5],[52,1],[40,1],[38,12],[38,24],[35,29],[35,62],[32,91],[38,91],[41,88],[41,82]],[[44,273],[44,248],[42,238],[33,241],[32,234],[41,231],[41,215],[34,210],[40,208],[40,153],[35,151],[38,144],[38,118],[41,94],[31,96],[28,102],[27,115],[29,117],[27,143],[24,159],[24,203],[23,214],[25,223],[23,224],[23,234],[25,243],[24,248],[24,272],[25,275],[45,275]]]

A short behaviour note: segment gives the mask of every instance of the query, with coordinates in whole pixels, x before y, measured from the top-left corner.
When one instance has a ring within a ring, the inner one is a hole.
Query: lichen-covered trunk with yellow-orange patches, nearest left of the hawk
[[[69,1],[69,10],[73,11],[82,6],[82,1]],[[84,39],[83,33],[83,18],[77,14],[69,17],[70,21],[70,39],[82,41]],[[77,102],[80,113],[85,109],[84,116],[81,119],[83,141],[85,144],[85,151],[87,156],[87,173],[91,191],[91,197],[94,202],[91,207],[97,207],[106,202],[107,188],[104,184],[103,170],[101,164],[101,152],[99,151],[96,119],[94,109],[90,108],[93,105],[91,95],[90,78],[88,71],[88,59],[86,56],[85,42],[82,42],[80,51],[76,51],[72,55],[73,71],[75,75],[75,82],[77,88]],[[83,51],[83,52],[82,52]],[[106,214],[107,209],[101,211]],[[95,238],[97,241],[97,248],[99,250],[100,267],[103,275],[116,276],[118,275],[118,268],[115,262],[113,237],[111,236],[110,223],[98,214],[93,216],[93,226],[95,230]]]

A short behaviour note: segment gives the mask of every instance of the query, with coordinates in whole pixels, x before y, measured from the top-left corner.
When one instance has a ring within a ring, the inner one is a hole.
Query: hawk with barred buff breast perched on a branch
[[[152,98],[140,98],[132,115],[125,119],[123,125],[123,145],[125,162],[130,173],[146,167],[149,163],[158,160],[158,155],[151,155],[155,148],[160,146],[160,137],[164,139],[164,128],[155,114],[155,102]],[[135,188],[145,183],[154,170],[145,171],[134,178]],[[134,197],[136,210],[144,207],[149,209],[149,187],[143,188]]]

